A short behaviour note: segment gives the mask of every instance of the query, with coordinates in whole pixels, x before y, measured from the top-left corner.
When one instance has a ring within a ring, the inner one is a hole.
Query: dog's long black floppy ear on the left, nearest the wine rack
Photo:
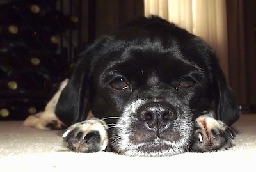
[[[85,120],[90,111],[88,81],[92,73],[92,64],[99,58],[99,53],[104,51],[108,39],[109,37],[105,36],[97,40],[81,54],[70,81],[61,92],[55,113],[67,126]]]

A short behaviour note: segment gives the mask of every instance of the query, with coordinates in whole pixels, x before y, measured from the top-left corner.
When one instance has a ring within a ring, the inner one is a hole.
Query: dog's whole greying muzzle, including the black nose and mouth
[[[136,100],[114,128],[113,148],[124,155],[165,156],[185,152],[193,124],[189,111],[167,100]],[[186,115],[185,115],[186,114]],[[122,136],[122,137],[120,137]]]

